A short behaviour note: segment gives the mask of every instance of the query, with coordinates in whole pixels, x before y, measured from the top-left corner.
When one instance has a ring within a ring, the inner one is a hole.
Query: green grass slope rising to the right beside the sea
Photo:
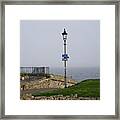
[[[88,79],[68,88],[57,89],[43,93],[37,92],[32,95],[33,96],[53,96],[53,95],[72,96],[75,94],[77,94],[78,97],[100,97],[100,80]]]

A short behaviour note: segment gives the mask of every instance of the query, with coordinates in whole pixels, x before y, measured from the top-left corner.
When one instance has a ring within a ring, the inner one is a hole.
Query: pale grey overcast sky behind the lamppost
[[[22,20],[20,22],[20,65],[63,67],[63,40],[68,32],[69,67],[100,66],[100,21]]]

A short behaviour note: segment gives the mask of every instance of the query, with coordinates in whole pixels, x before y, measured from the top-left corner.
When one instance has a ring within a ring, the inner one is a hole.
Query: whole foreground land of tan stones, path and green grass
[[[21,100],[100,100],[100,80],[77,83],[67,78],[67,88],[64,88],[63,76],[50,75],[21,80],[20,86]]]

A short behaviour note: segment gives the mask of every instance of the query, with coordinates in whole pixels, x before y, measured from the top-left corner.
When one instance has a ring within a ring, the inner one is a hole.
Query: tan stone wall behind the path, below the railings
[[[21,81],[21,90],[40,88],[64,88],[64,78],[62,76],[51,76],[50,78]],[[75,85],[74,80],[67,80],[67,86]]]

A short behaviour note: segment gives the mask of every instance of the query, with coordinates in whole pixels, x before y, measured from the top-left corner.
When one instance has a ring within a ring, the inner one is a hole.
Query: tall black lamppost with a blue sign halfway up
[[[64,32],[62,33],[62,36],[63,36],[63,43],[64,43],[64,54],[62,54],[62,61],[64,61],[64,85],[65,85],[65,88],[67,87],[67,83],[66,83],[66,68],[67,68],[67,61],[68,61],[68,54],[67,54],[67,32],[66,30],[64,29]]]

